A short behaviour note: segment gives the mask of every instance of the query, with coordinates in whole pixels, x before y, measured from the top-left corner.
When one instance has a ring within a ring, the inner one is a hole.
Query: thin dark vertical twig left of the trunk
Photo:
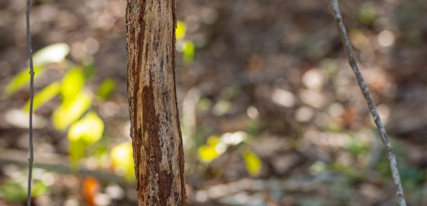
[[[32,178],[32,163],[34,161],[34,147],[32,143],[32,107],[34,101],[34,68],[32,65],[32,49],[31,49],[31,32],[29,29],[29,8],[31,0],[27,0],[27,48],[29,58],[29,159],[28,159],[28,191],[27,191],[27,206],[31,206],[31,178]]]

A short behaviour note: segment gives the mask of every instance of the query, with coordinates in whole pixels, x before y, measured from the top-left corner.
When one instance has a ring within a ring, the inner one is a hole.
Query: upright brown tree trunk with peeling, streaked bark
[[[186,205],[175,0],[128,0],[127,80],[138,204]]]

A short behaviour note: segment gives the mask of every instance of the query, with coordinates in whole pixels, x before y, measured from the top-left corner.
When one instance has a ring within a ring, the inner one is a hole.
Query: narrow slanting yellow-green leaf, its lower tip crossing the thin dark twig
[[[34,111],[37,110],[41,105],[49,102],[53,97],[55,97],[59,93],[60,89],[61,84],[58,81],[55,81],[43,88],[42,91],[34,95]],[[24,110],[26,112],[29,112],[29,101],[27,101],[27,103],[25,104]]]

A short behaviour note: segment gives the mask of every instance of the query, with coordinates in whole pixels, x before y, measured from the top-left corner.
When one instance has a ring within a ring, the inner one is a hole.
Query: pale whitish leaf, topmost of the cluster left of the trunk
[[[68,44],[56,43],[49,45],[34,53],[34,66],[61,62],[69,52],[70,46],[68,46]]]

